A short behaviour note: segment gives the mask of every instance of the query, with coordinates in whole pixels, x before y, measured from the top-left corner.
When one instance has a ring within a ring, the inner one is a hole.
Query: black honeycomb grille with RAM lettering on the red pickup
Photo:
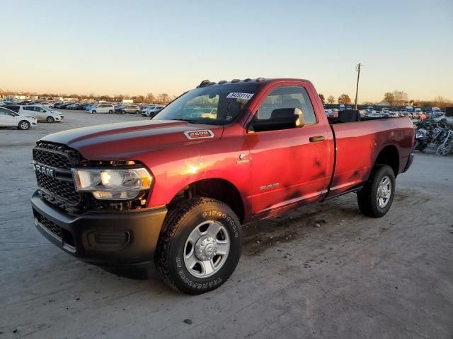
[[[42,196],[47,201],[65,209],[81,203],[81,194],[76,192],[71,174],[71,167],[78,165],[80,160],[80,154],[65,145],[37,143],[33,148],[34,164],[53,170],[52,175],[35,171],[38,188],[45,193]]]

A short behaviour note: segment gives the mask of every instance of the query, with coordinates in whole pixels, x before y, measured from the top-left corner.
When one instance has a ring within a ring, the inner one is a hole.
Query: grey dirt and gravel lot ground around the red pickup
[[[179,295],[60,251],[33,225],[31,148],[134,115],[0,130],[0,338],[453,338],[453,158],[418,154],[381,219],[355,194],[247,225],[230,280]],[[186,321],[185,319],[190,319]]]

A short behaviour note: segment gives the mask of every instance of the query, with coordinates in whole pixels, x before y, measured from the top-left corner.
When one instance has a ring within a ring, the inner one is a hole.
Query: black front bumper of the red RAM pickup
[[[40,198],[31,197],[35,226],[53,244],[82,261],[99,266],[149,263],[166,208],[101,211],[68,215]]]

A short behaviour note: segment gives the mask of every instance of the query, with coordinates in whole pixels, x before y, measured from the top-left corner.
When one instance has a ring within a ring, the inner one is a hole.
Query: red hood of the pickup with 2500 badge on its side
[[[199,130],[210,132],[205,137],[190,138],[191,131]],[[45,136],[41,141],[68,145],[88,160],[134,160],[134,156],[152,150],[217,140],[223,130],[223,126],[187,121],[147,120],[70,129]]]

